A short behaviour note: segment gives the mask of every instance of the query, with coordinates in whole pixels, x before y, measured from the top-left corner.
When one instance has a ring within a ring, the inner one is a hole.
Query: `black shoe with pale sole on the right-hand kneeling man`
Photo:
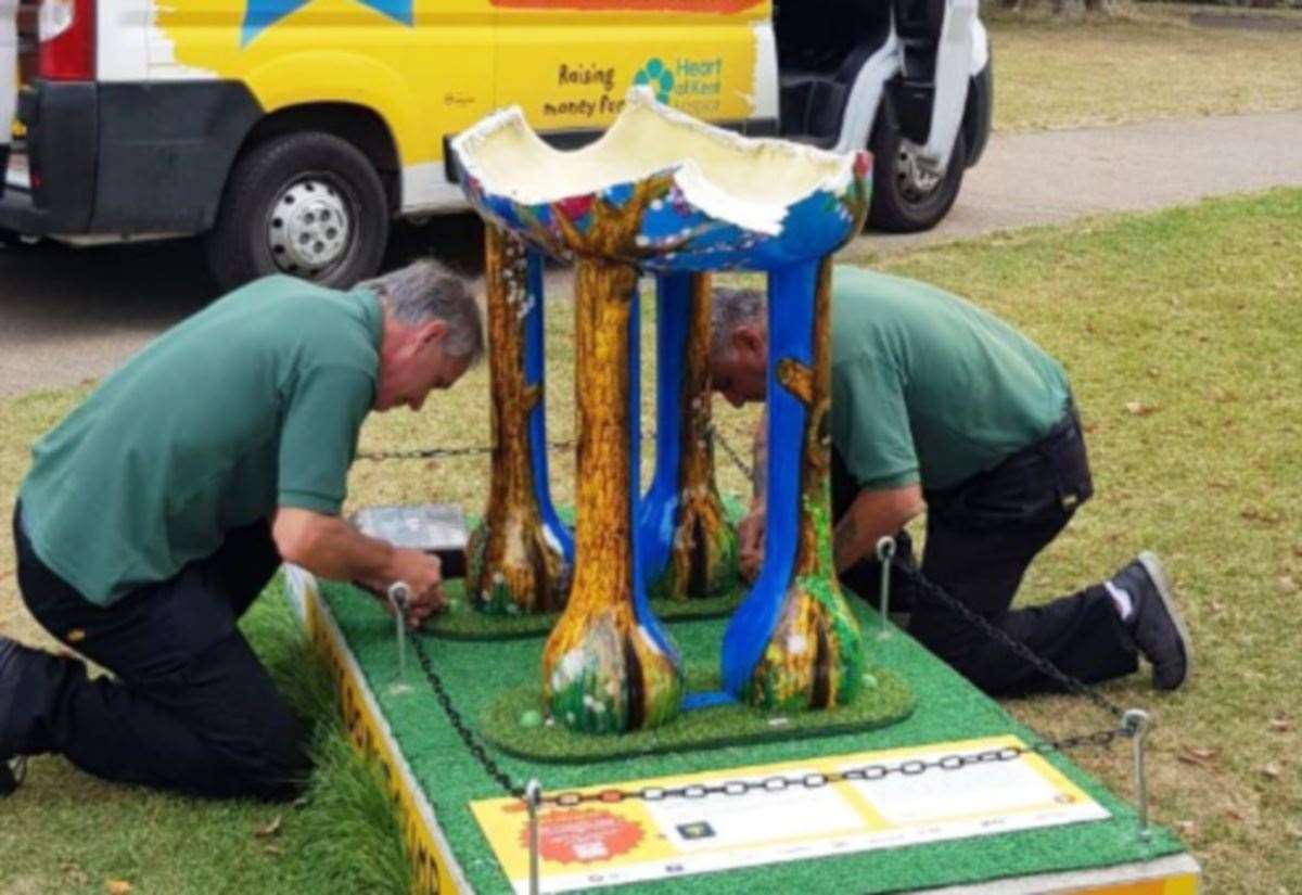
[[[1152,663],[1152,686],[1177,689],[1194,667],[1193,641],[1157,554],[1144,550],[1113,575],[1112,583],[1130,594],[1134,611],[1126,627],[1135,647]]]

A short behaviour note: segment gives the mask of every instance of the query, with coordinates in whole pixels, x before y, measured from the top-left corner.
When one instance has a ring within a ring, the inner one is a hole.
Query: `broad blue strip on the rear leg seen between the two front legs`
[[[656,434],[655,477],[638,514],[643,579],[650,585],[669,562],[678,518],[678,455],[682,415],[682,359],[691,320],[691,274],[656,278]]]

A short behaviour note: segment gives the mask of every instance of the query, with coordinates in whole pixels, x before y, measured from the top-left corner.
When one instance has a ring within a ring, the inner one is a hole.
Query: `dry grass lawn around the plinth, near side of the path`
[[[1302,892],[1299,256],[1302,190],[1280,190],[953,243],[883,265],[970,297],[1068,367],[1098,493],[1032,568],[1023,598],[1099,580],[1142,548],[1168,562],[1198,675],[1176,696],[1152,692],[1143,676],[1107,693],[1154,712],[1154,812],[1182,833],[1204,865],[1204,891],[1217,894]],[[565,301],[549,307],[552,434],[565,438],[570,314]],[[423,414],[378,416],[362,448],[486,444],[486,388],[480,368]],[[10,505],[27,445],[83,392],[0,403],[0,505]],[[743,446],[754,412],[720,406],[719,416]],[[556,494],[566,501],[573,464],[553,462]],[[484,474],[483,457],[363,462],[352,500],[453,500],[478,510]],[[743,488],[732,468],[720,479],[728,490]],[[401,887],[392,820],[322,708],[327,697],[285,610],[263,604],[249,623],[254,641],[296,702],[322,719],[324,766],[312,797],[298,807],[193,801],[102,784],[61,758],[36,760],[27,786],[0,803],[0,892],[100,892],[105,879],[168,894]],[[16,600],[8,537],[0,539],[0,628],[39,640]],[[1100,721],[1068,697],[1012,709],[1047,734]],[[1128,749],[1078,761],[1129,792]]]

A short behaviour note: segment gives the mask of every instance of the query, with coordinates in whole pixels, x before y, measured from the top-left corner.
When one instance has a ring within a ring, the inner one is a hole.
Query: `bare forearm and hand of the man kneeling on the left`
[[[376,593],[405,581],[411,588],[409,618],[414,623],[444,605],[436,557],[367,537],[339,516],[280,507],[271,537],[283,559],[320,578],[358,581]]]

